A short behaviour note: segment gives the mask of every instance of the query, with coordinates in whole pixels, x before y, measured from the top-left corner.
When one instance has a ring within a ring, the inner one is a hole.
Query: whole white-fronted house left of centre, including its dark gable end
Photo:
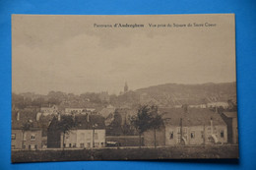
[[[61,117],[54,117],[48,127],[47,147],[92,148],[105,146],[104,118],[100,115],[73,115],[75,127],[63,134],[59,126]]]

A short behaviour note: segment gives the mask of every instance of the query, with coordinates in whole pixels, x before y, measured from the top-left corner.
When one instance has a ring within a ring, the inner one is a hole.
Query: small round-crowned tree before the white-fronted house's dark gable
[[[72,116],[62,116],[59,124],[58,124],[58,130],[63,133],[62,140],[63,140],[63,149],[64,149],[64,140],[65,135],[69,134],[70,130],[75,127],[75,121],[73,120]]]

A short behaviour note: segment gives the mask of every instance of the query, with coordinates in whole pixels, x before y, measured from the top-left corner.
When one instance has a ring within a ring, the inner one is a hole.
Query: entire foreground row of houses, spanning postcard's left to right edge
[[[107,108],[114,111],[112,107]],[[131,110],[124,112],[125,119]],[[127,112],[127,113],[126,113]],[[128,113],[129,112],[129,113]],[[53,115],[43,129],[41,119],[29,113],[14,112],[12,119],[12,149],[40,148],[93,148],[104,147],[107,142],[117,142],[114,137],[106,136],[108,112],[100,114],[76,114],[73,116],[75,126],[68,133],[58,129],[61,115]],[[111,114],[109,112],[109,114]],[[149,130],[143,134],[143,145],[159,146],[177,144],[224,144],[237,143],[236,112],[213,112],[207,108],[160,108],[159,114],[164,125],[156,131]],[[28,125],[25,127],[24,125]],[[156,138],[155,138],[156,137]],[[109,141],[109,139],[111,139]],[[127,145],[134,137],[122,137],[120,145]],[[120,141],[120,138],[119,138]],[[118,141],[118,142],[119,142]],[[138,141],[138,140],[137,140]],[[138,142],[134,142],[138,145]]]

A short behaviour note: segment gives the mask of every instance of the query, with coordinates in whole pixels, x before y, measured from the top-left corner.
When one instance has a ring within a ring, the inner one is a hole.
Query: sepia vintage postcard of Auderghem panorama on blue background
[[[12,16],[12,162],[238,154],[233,14]]]

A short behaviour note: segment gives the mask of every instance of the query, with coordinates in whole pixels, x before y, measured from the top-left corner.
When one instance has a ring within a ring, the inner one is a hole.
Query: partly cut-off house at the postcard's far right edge
[[[227,125],[227,142],[238,143],[237,112],[224,111],[221,116]]]

